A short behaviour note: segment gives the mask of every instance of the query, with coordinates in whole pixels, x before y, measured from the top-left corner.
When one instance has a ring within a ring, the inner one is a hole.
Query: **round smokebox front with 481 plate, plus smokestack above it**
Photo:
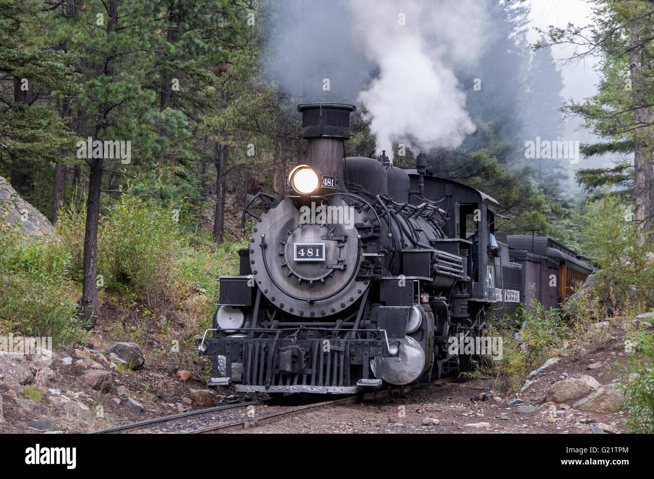
[[[302,136],[309,140],[307,166],[321,178],[325,191],[309,197],[311,203],[301,208],[285,197],[262,214],[250,239],[257,286],[273,305],[294,316],[341,312],[369,286],[368,280],[356,279],[362,257],[354,225],[370,225],[371,220],[339,193],[345,187],[343,140],[350,137],[355,109],[338,103],[298,106]],[[328,190],[324,178],[333,180]]]

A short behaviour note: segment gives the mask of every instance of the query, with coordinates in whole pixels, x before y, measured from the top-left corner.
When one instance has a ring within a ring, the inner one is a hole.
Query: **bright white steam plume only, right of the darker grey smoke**
[[[483,42],[479,2],[351,0],[362,50],[379,75],[357,98],[366,106],[377,149],[394,140],[413,149],[456,148],[475,125],[466,112],[458,69],[477,60]],[[403,22],[404,20],[404,22]],[[404,25],[402,25],[404,23]],[[472,85],[470,86],[472,90]]]

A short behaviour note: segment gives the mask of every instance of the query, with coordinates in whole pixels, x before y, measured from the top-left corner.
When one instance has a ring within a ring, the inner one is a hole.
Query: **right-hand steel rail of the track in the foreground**
[[[432,381],[430,384],[441,384],[441,383],[452,382],[452,381],[453,378],[443,378],[443,379]],[[322,401],[320,403],[295,406],[275,412],[270,412],[268,414],[262,414],[261,416],[247,418],[245,420],[237,420],[228,423],[212,425],[209,427],[203,427],[201,429],[196,429],[195,431],[188,431],[186,434],[221,434],[221,433],[226,433],[227,431],[233,429],[247,429],[249,427],[258,427],[264,423],[276,420],[283,416],[289,416],[290,414],[296,414],[298,412],[305,412],[310,409],[317,409],[317,408],[322,408],[324,406],[332,406],[332,405],[359,403],[361,401],[371,401],[373,399],[382,399],[386,397],[391,397],[392,395],[395,394],[404,394],[411,391],[412,389],[421,388],[423,386],[428,386],[428,384],[424,384],[424,383],[415,384],[413,386],[404,386],[404,388],[400,388],[400,389],[388,389],[385,391],[373,391],[371,393],[366,393],[364,395],[339,397],[337,399],[332,399],[331,401]]]

